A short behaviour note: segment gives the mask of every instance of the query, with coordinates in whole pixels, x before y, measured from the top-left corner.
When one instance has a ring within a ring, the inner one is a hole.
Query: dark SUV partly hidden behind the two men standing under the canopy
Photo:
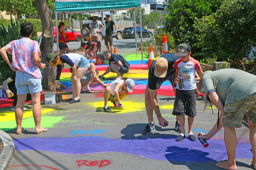
[[[106,26],[105,23],[102,23],[103,26],[105,27],[99,34],[100,34],[100,40],[105,38],[105,34],[106,34]],[[87,38],[89,38],[90,35],[90,22],[88,23],[84,23],[83,24],[83,29],[82,29],[82,38],[84,39],[84,41],[86,41]],[[101,29],[101,26],[100,28]],[[122,39],[122,31],[117,29],[117,32],[113,34],[113,37],[116,37],[116,39],[121,40]]]

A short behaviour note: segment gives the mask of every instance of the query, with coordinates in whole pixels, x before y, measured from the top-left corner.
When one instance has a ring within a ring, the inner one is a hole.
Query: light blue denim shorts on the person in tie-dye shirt
[[[18,95],[39,93],[42,91],[42,79],[34,78],[31,74],[16,71],[15,86]]]

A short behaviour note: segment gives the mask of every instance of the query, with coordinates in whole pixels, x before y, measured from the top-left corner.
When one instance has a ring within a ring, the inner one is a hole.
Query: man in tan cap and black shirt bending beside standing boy
[[[179,57],[174,56],[173,53],[166,53],[159,56],[156,60],[153,60],[149,68],[148,84],[145,89],[145,107],[148,116],[148,124],[145,126],[143,134],[150,134],[155,131],[155,123],[153,120],[153,110],[156,113],[159,124],[161,126],[168,125],[168,121],[165,120],[160,113],[157,98],[157,89],[160,88],[164,81],[170,81],[174,83],[175,69],[172,65],[178,60]],[[178,117],[176,117],[175,129],[180,131],[180,124]]]

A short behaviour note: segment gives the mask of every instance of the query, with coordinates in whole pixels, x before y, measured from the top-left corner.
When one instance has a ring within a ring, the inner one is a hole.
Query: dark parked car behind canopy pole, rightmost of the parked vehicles
[[[151,31],[146,30],[142,27],[142,38],[149,37],[151,38],[153,33]],[[123,39],[127,38],[135,38],[134,27],[124,28],[123,30]],[[140,38],[140,27],[136,27],[136,38]]]

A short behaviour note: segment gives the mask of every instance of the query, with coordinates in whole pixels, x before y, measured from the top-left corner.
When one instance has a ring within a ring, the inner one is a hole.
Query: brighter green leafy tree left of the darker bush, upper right
[[[220,5],[220,0],[165,0],[166,11],[165,28],[174,36],[176,44],[189,43],[192,47],[196,44],[197,34],[194,21],[197,18],[214,13]],[[201,51],[193,48],[193,53]]]

